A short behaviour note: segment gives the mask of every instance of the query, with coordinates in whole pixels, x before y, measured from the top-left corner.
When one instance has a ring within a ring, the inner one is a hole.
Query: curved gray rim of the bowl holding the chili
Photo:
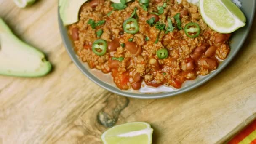
[[[240,49],[243,47],[243,44],[245,43],[246,38],[248,37],[248,34],[250,32],[250,29],[252,27],[253,24],[253,20],[255,17],[255,11],[256,11],[256,1],[253,1],[253,9],[252,9],[252,16],[250,19],[247,19],[246,23],[248,24],[248,30],[245,32],[245,36],[241,39],[241,43],[239,43],[239,45],[237,45],[237,49],[235,49],[234,53],[229,56],[227,59],[225,59],[225,61],[219,65],[219,67],[211,72],[207,77],[202,78],[201,80],[193,83],[192,85],[189,85],[187,87],[181,88],[180,90],[177,91],[172,91],[172,92],[163,92],[163,93],[131,93],[131,92],[126,92],[126,91],[122,91],[118,88],[113,87],[112,85],[109,85],[107,83],[104,83],[103,81],[99,80],[95,75],[91,74],[91,72],[89,72],[84,66],[83,64],[78,60],[76,54],[73,51],[73,48],[69,48],[69,46],[67,45],[66,42],[66,37],[64,37],[64,35],[67,35],[64,33],[64,25],[61,21],[60,18],[60,14],[59,14],[59,6],[58,6],[58,25],[59,25],[59,32],[61,34],[61,39],[62,42],[66,48],[67,53],[69,54],[69,57],[72,59],[72,61],[75,63],[76,67],[78,69],[80,69],[80,71],[86,75],[91,81],[93,81],[94,83],[96,83],[97,85],[101,86],[104,89],[107,89],[108,91],[112,92],[112,93],[116,93],[118,95],[121,96],[127,96],[130,98],[139,98],[139,99],[160,99],[160,98],[166,98],[166,97],[171,97],[171,96],[176,96],[178,94],[181,93],[185,93],[188,91],[191,91],[197,87],[199,87],[200,85],[203,85],[204,83],[208,82],[209,80],[211,80],[213,77],[215,77],[217,74],[219,74],[225,67],[227,67],[227,65],[230,63],[230,61],[232,61],[232,59],[234,59],[234,57],[237,55],[238,51],[240,51]]]

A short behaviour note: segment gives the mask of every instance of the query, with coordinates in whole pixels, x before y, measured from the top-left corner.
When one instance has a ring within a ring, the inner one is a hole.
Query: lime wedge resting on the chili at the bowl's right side
[[[200,0],[200,13],[216,32],[231,33],[245,26],[243,12],[231,0]]]

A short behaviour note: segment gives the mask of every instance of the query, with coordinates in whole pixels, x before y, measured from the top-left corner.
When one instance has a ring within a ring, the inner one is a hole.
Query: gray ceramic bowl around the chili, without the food
[[[61,37],[63,40],[63,43],[67,49],[67,52],[69,53],[69,56],[73,60],[73,62],[76,64],[76,66],[85,74],[90,80],[92,80],[94,83],[100,85],[101,87],[107,89],[108,91],[111,91],[113,93],[117,93],[122,96],[128,96],[133,98],[142,98],[142,99],[156,99],[156,98],[164,98],[168,96],[174,96],[178,95],[180,93],[184,93],[187,91],[192,90],[193,88],[196,88],[203,83],[207,82],[214,76],[216,76],[219,72],[221,72],[224,67],[229,64],[229,62],[234,58],[234,56],[237,54],[237,52],[240,50],[240,48],[243,46],[243,43],[245,42],[245,38],[248,36],[248,33],[250,31],[251,25],[253,23],[254,19],[254,13],[256,8],[256,1],[255,0],[240,0],[242,2],[242,11],[245,13],[245,16],[247,18],[247,24],[245,27],[237,30],[232,38],[231,38],[231,51],[229,53],[229,56],[227,59],[225,59],[216,69],[215,71],[211,72],[211,74],[201,78],[200,80],[197,80],[195,83],[192,83],[188,86],[185,86],[179,90],[172,91],[172,92],[162,92],[162,93],[152,93],[152,94],[140,94],[140,93],[134,93],[134,92],[128,92],[128,91],[121,91],[115,85],[111,85],[109,83],[106,83],[99,79],[99,75],[96,76],[93,74],[91,69],[88,67],[85,67],[85,64],[83,64],[76,56],[75,51],[73,50],[72,41],[69,39],[69,36],[67,34],[67,28],[63,26],[62,21],[59,16],[59,29],[61,32]],[[102,75],[104,75],[102,73]]]

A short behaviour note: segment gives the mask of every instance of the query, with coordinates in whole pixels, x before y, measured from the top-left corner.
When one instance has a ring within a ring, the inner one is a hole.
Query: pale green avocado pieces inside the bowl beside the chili
[[[88,0],[59,0],[59,13],[64,26],[74,24],[79,20],[81,6]],[[120,0],[110,0],[113,3],[120,3]],[[126,0],[129,2],[131,0]]]

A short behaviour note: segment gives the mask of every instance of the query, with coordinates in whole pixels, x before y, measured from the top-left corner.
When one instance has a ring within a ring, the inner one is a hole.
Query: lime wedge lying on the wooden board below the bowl
[[[148,123],[132,122],[117,125],[101,135],[104,144],[151,144],[153,129]]]

